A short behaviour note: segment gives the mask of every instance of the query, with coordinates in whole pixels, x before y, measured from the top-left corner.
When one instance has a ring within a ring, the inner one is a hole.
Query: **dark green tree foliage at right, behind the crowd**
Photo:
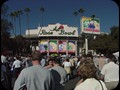
[[[89,43],[89,48],[96,50],[97,53],[113,53],[119,50],[119,27],[113,26],[110,28],[109,35],[103,34],[96,37],[95,40]]]

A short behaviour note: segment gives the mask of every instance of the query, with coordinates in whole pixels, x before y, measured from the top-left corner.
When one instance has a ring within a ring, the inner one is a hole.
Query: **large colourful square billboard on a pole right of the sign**
[[[81,33],[100,34],[100,20],[98,18],[82,17]]]

